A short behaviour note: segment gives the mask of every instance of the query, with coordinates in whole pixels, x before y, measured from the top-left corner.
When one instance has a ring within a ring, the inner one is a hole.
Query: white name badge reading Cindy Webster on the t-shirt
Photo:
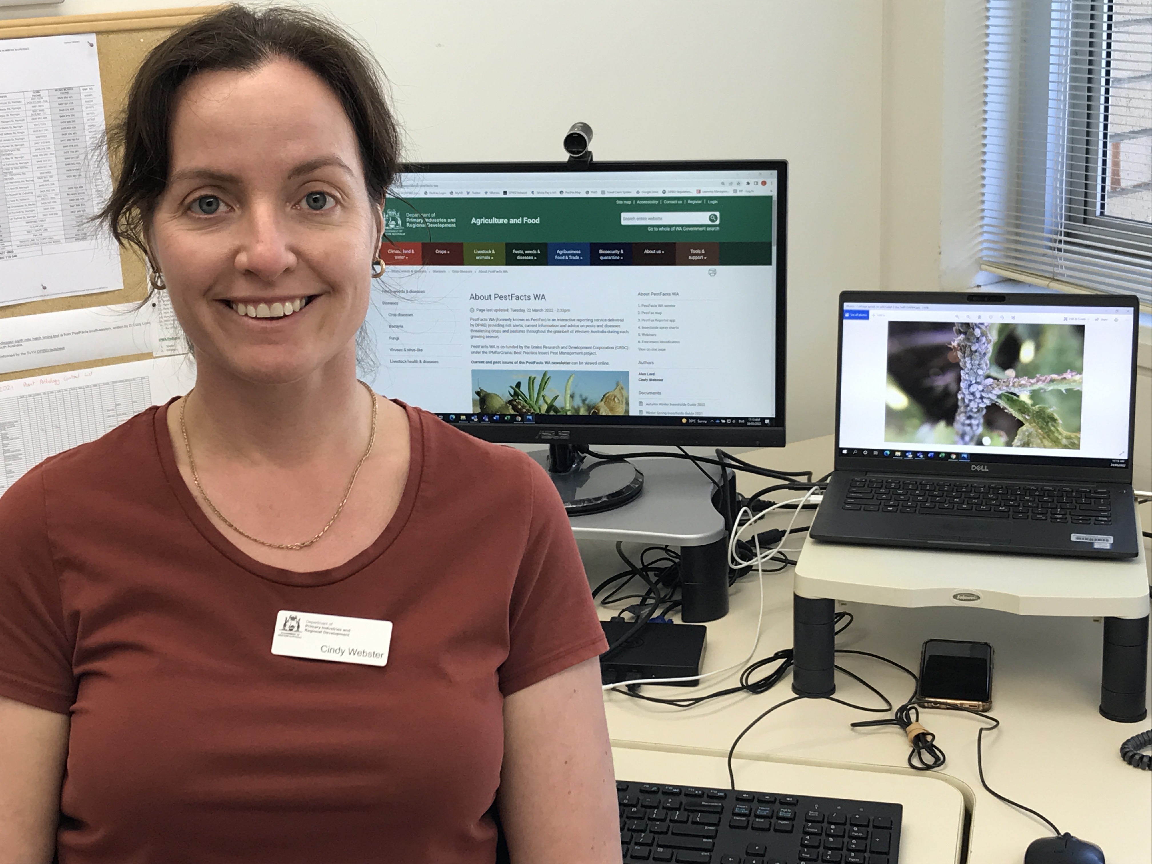
[[[273,654],[365,666],[387,665],[391,644],[391,621],[288,609],[276,613],[272,634]]]

